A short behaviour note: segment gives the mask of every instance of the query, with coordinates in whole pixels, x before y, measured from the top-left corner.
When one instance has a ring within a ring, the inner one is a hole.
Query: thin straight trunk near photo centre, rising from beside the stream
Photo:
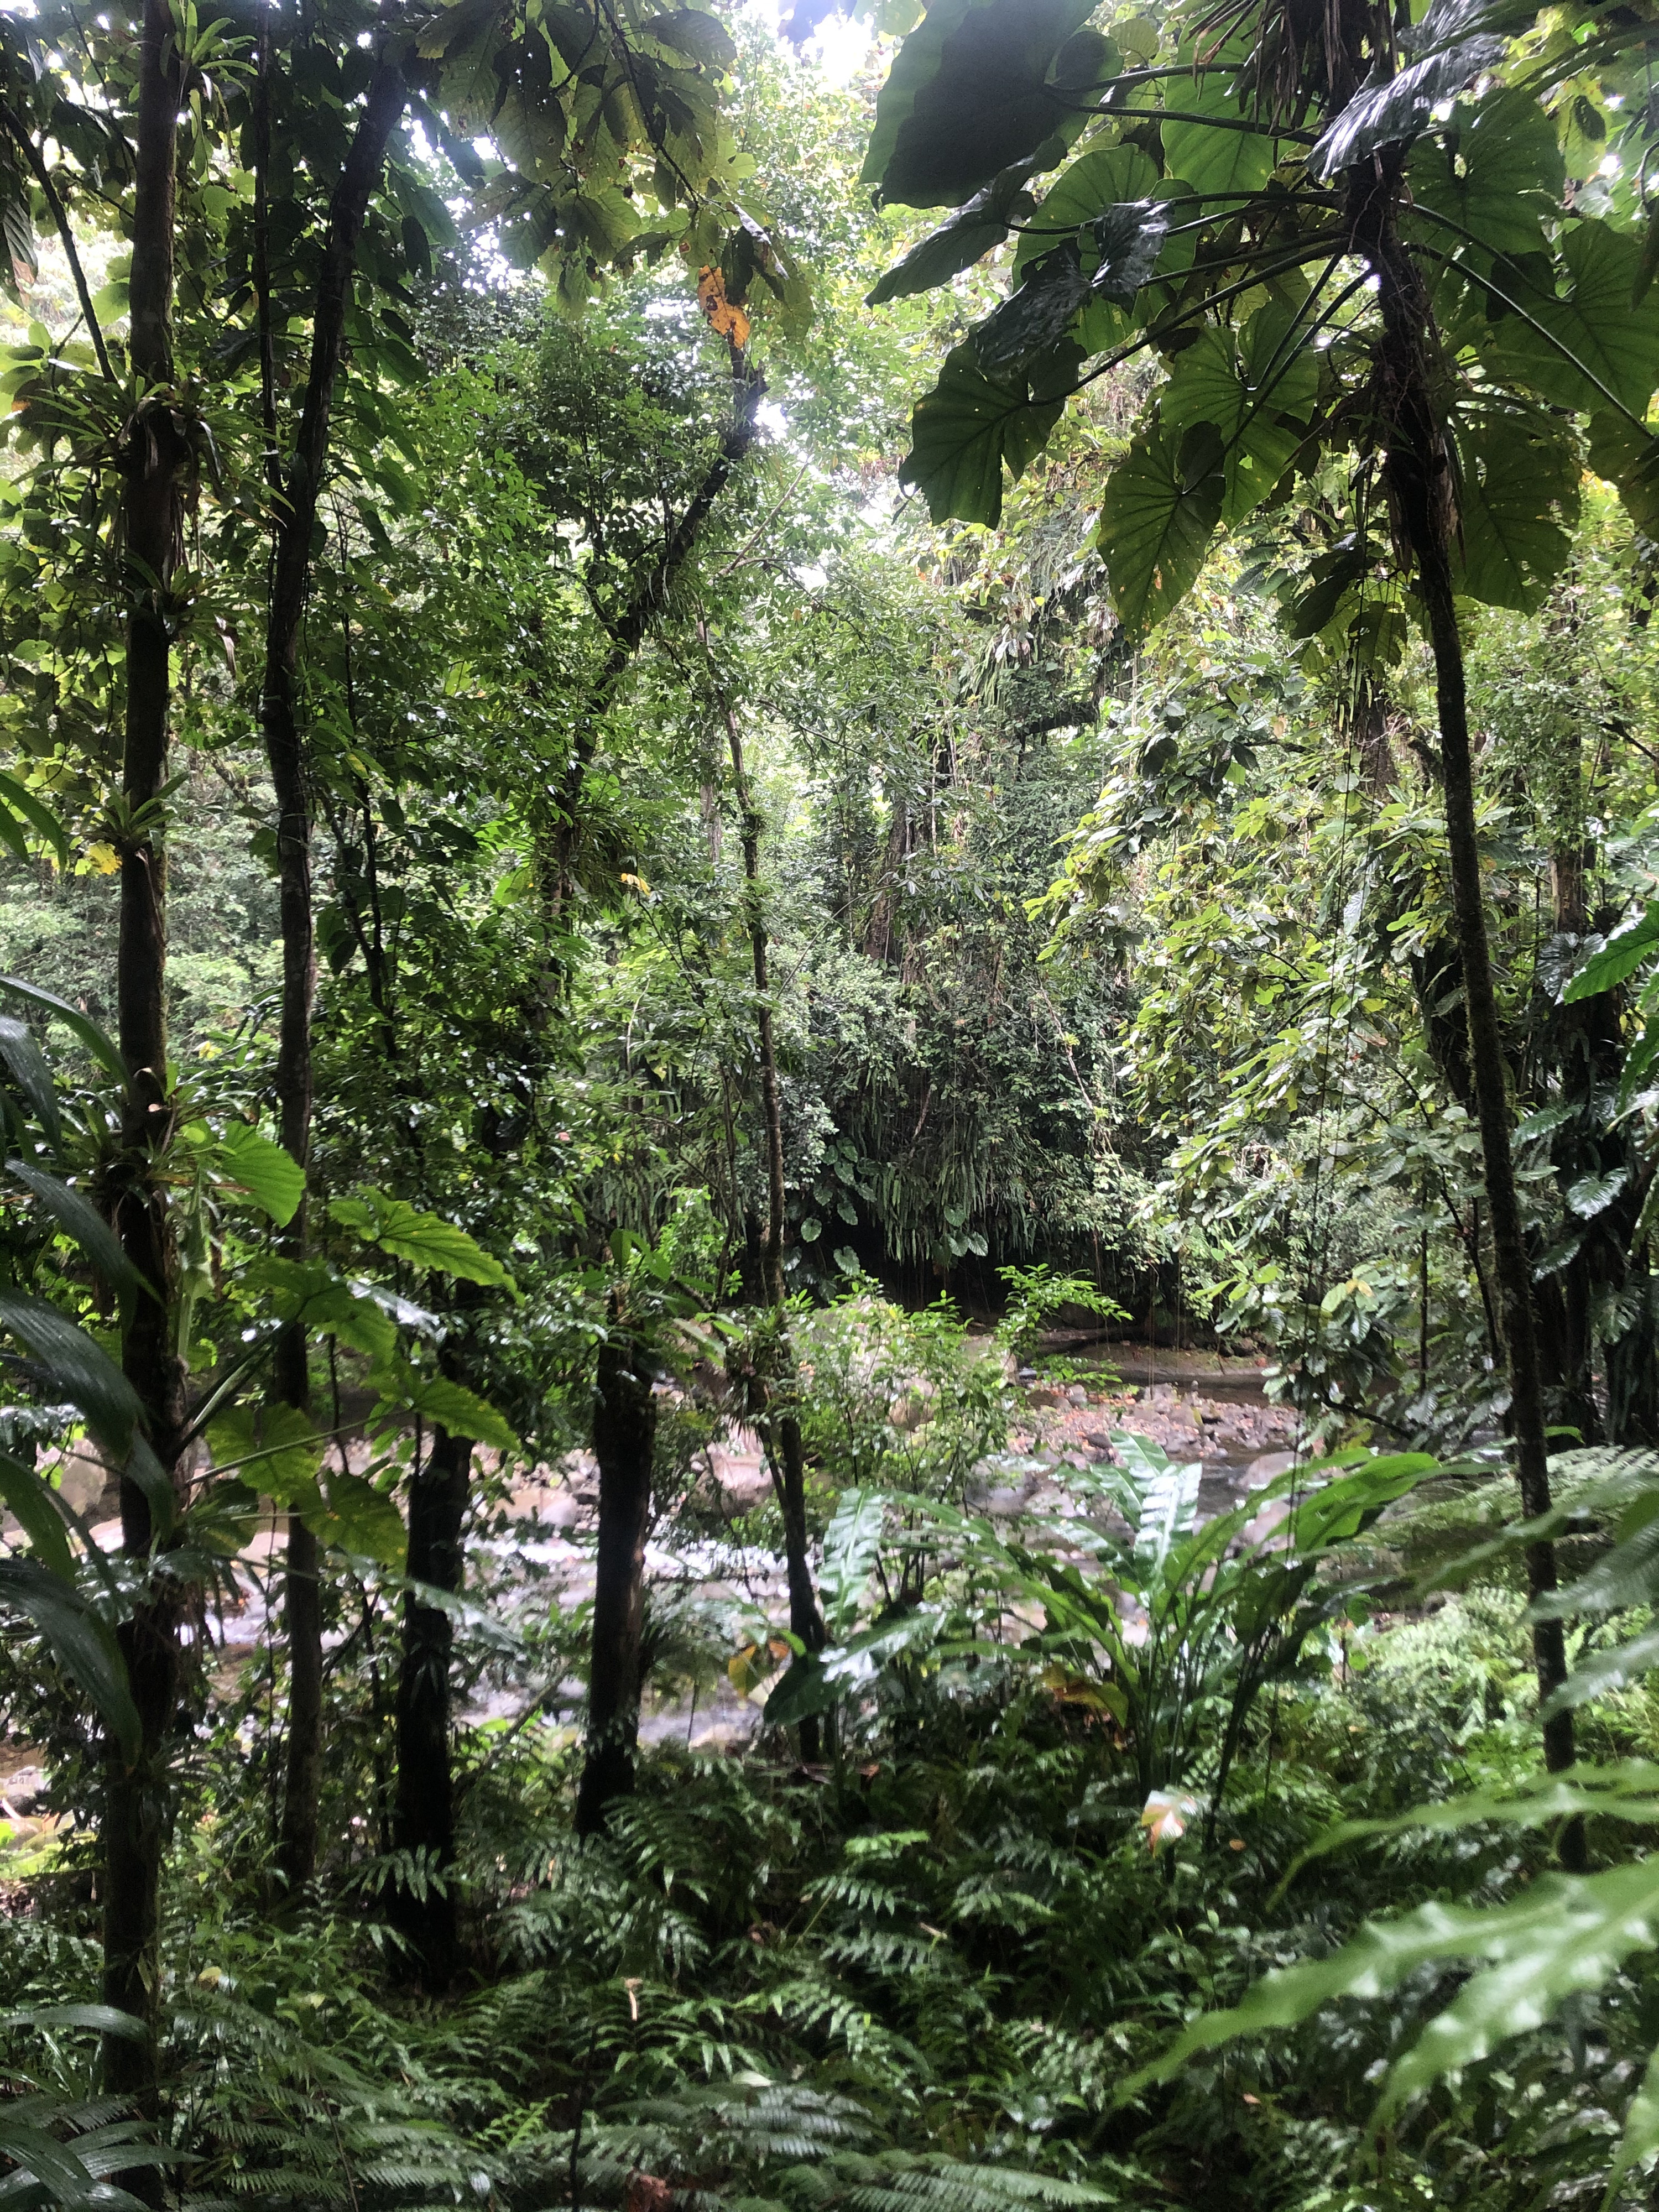
[[[708,633],[703,633],[708,646]],[[732,785],[743,816],[743,905],[748,907],[750,956],[754,964],[754,1020],[761,1046],[761,1119],[765,1124],[765,1243],[761,1248],[761,1272],[772,1312],[779,1316],[781,1356],[792,1365],[787,1329],[783,1323],[783,1102],[779,1095],[779,1051],[772,1029],[772,978],[768,971],[765,911],[761,907],[761,812],[754,805],[748,768],[743,763],[743,732],[730,701],[723,706],[726,741],[732,752]],[[779,1380],[787,1380],[779,1378]],[[805,1650],[823,1650],[823,1615],[818,1593],[812,1588],[812,1562],[807,1557],[807,1478],[805,1451],[801,1449],[801,1422],[787,1409],[772,1425],[772,1475],[783,1513],[783,1559],[790,1582],[790,1632]],[[818,1721],[801,1721],[801,1759],[814,1763],[821,1754],[823,1736]]]

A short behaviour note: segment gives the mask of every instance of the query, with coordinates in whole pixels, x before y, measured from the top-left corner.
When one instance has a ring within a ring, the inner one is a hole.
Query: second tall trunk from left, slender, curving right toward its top
[[[265,55],[261,51],[261,64]],[[270,86],[261,66],[259,84],[259,153],[268,146]],[[405,104],[403,73],[380,62],[369,80],[369,97],[352,137],[352,148],[334,186],[323,246],[323,272],[312,312],[312,365],[301,407],[299,440],[281,471],[276,509],[276,553],[272,562],[270,608],[265,617],[265,681],[261,723],[265,757],[276,794],[276,885],[283,933],[283,1013],[276,1046],[276,1113],[281,1139],[301,1168],[312,1155],[312,1002],[316,998],[316,931],[312,916],[312,799],[307,787],[305,741],[299,723],[299,633],[312,573],[312,529],[316,500],[327,465],[334,387],[345,354],[345,316],[352,305],[352,274],[363,221],[369,208],[392,133]],[[263,184],[261,184],[263,204]],[[257,226],[259,228],[259,226]],[[265,400],[265,438],[274,462],[274,400],[270,396],[270,272],[265,241],[257,237],[261,290],[261,385]],[[290,1259],[305,1256],[305,1199],[281,1234]],[[310,1374],[305,1329],[292,1323],[276,1347],[276,1396],[283,1405],[310,1411]],[[303,1889],[316,1867],[316,1801],[323,1772],[323,1588],[316,1537],[299,1515],[288,1522],[288,1575],[283,1582],[283,1621],[288,1628],[288,1761],[283,1778],[283,1818],[279,1867],[288,1893]]]

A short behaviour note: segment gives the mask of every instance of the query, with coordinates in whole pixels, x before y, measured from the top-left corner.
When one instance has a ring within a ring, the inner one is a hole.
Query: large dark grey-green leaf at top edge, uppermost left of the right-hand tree
[[[863,181],[953,208],[998,170],[1075,135],[1117,55],[1082,33],[1091,0],[933,0],[876,100]]]

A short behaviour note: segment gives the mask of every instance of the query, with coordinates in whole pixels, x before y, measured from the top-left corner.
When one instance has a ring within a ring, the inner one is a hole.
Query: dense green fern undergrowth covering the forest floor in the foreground
[[[1639,1694],[1601,1712],[1595,1754],[1652,1747]],[[1533,1732],[1520,1608],[1484,1588],[1334,1637],[1323,1679],[1263,1697],[1214,1832],[1194,1807],[1157,1854],[1110,1719],[1031,1683],[922,1681],[825,1770],[779,1734],[657,1747],[597,1845],[568,1827],[564,1739],[480,1734],[469,1969],[442,2002],[409,1993],[372,1869],[272,1916],[259,1805],[210,1741],[164,1947],[175,2185],[195,2212],[641,2212],[666,2201],[641,2177],[697,2212],[1595,2201],[1659,1980],[1615,1978],[1380,2137],[1376,2075],[1444,1973],[1119,2099],[1194,2011],[1363,1918],[1520,1896],[1546,1834],[1405,1832],[1285,1874],[1334,1820],[1524,1778]],[[42,1909],[0,1922],[4,2000],[93,1997],[73,1845],[35,1882]],[[24,2031],[11,2064],[86,2095],[84,2044]]]

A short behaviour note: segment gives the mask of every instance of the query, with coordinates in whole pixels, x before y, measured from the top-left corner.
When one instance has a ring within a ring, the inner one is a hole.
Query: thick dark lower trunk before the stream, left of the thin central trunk
[[[646,1621],[646,1526],[657,1400],[639,1347],[622,1329],[617,1301],[599,1347],[593,1458],[599,1462],[599,1562],[593,1584],[588,1754],[575,1798],[575,1832],[604,1827],[613,1798],[633,1790],[639,1750],[639,1644]]]

